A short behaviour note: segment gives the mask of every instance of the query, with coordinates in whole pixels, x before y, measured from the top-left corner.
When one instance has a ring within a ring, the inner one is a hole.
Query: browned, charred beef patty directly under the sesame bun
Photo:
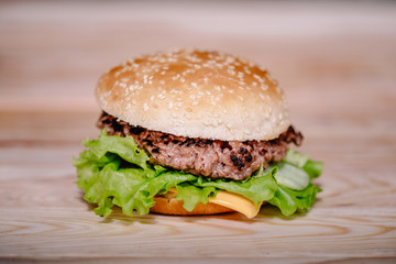
[[[267,167],[270,162],[279,162],[286,155],[288,143],[300,145],[302,141],[301,133],[292,125],[277,139],[243,142],[185,138],[151,131],[130,125],[106,112],[102,112],[97,125],[106,128],[111,135],[132,135],[138,146],[148,153],[153,164],[194,175],[235,180],[250,177],[261,165]]]

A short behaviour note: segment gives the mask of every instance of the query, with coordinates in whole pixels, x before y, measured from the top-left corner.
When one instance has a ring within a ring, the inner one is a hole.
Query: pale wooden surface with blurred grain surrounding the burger
[[[72,157],[95,138],[100,74],[220,50],[268,68],[301,151],[324,162],[308,213],[100,218]],[[396,4],[0,2],[0,262],[396,261]]]

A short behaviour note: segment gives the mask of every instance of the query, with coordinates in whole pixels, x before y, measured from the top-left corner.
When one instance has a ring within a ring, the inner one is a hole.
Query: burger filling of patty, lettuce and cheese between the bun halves
[[[320,188],[322,163],[287,148],[302,136],[292,127],[271,141],[188,139],[131,127],[102,113],[99,139],[74,160],[77,185],[99,216],[113,206],[145,215],[154,197],[173,191],[187,211],[215,202],[254,217],[263,201],[292,216],[308,210]]]

